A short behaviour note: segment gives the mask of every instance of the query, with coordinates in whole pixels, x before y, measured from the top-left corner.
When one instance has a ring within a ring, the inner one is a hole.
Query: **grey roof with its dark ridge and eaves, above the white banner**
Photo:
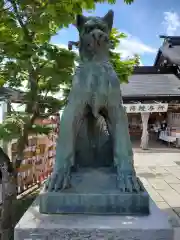
[[[180,79],[173,67],[136,67],[128,84],[121,84],[123,99],[180,99]]]

